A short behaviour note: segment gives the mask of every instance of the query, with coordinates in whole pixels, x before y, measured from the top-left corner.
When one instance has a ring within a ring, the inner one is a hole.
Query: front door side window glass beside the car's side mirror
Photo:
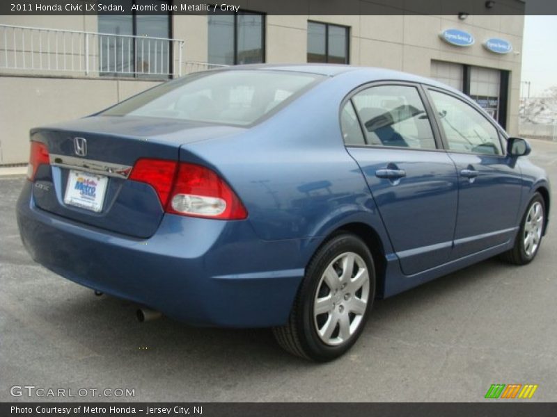
[[[448,148],[457,152],[503,155],[496,127],[464,101],[430,91]]]

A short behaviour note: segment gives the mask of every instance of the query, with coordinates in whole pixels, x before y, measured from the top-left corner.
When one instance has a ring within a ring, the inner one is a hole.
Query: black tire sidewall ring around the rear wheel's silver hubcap
[[[359,254],[359,256],[361,256],[363,261],[366,263],[370,277],[370,294],[368,297],[366,312],[364,313],[361,324],[356,332],[345,343],[338,346],[330,346],[323,343],[317,335],[317,329],[315,329],[315,324],[313,322],[313,302],[317,286],[320,283],[325,268],[327,268],[329,263],[331,263],[336,256],[345,252],[354,252]],[[297,317],[297,333],[300,335],[300,342],[308,356],[315,361],[330,361],[331,359],[335,359],[349,350],[350,347],[356,343],[356,340],[359,338],[366,325],[366,320],[368,319],[374,297],[375,268],[372,255],[370,254],[366,243],[352,234],[340,234],[331,238],[331,240],[329,240],[320,248],[320,250],[316,252],[313,259],[308,264],[306,277],[304,277],[304,282],[302,283],[299,293],[298,311],[300,314]]]

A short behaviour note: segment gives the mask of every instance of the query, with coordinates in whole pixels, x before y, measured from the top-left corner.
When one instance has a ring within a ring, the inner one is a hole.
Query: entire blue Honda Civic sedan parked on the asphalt
[[[532,261],[550,192],[529,152],[430,79],[230,67],[31,130],[17,218],[65,278],[192,325],[272,327],[327,361],[375,298]]]

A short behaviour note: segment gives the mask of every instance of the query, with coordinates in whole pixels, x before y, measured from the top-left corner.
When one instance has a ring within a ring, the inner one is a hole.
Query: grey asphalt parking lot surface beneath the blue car
[[[556,206],[557,143],[531,143]],[[24,181],[0,177],[0,401],[469,402],[491,384],[538,384],[530,401],[557,401],[556,208],[530,265],[490,259],[378,301],[354,348],[315,364],[283,352],[268,329],[141,324],[135,304],[33,263],[15,221]],[[25,385],[98,391],[10,394]]]

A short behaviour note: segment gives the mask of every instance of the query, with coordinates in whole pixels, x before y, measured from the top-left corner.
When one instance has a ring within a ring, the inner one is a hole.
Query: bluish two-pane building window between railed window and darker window
[[[265,62],[265,16],[260,13],[211,14],[208,17],[209,63]]]

